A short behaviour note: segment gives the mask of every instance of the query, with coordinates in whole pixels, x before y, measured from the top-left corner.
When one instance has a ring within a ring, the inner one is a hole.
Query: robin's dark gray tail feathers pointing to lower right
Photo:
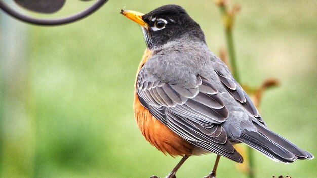
[[[236,139],[260,151],[274,161],[290,163],[297,159],[314,158],[312,154],[300,149],[278,134],[259,126],[257,123],[254,123],[254,125],[258,128],[258,132],[244,131]]]

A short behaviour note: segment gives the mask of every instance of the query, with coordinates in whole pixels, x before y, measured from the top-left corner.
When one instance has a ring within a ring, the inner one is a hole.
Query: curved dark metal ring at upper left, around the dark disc
[[[35,24],[35,25],[62,25],[62,24],[67,24],[71,22],[75,22],[77,20],[80,20],[84,17],[87,17],[91,13],[95,12],[98,10],[103,4],[105,4],[108,0],[98,0],[95,4],[87,8],[86,10],[70,15],[68,17],[63,17],[63,18],[56,18],[56,19],[39,19],[39,18],[34,18],[25,14],[21,14],[12,8],[10,8],[7,4],[5,4],[2,0],[0,0],[0,8],[11,15],[12,17],[15,17],[21,21],[30,23],[30,24]]]

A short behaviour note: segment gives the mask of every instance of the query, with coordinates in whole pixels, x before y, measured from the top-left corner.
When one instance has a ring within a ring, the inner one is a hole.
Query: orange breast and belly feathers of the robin
[[[147,49],[144,52],[137,74],[151,56],[151,51]],[[145,139],[164,154],[168,153],[171,156],[191,155],[195,148],[194,145],[175,134],[166,125],[157,120],[148,109],[142,106],[136,92],[136,84],[137,81],[135,82],[134,90],[134,116]]]

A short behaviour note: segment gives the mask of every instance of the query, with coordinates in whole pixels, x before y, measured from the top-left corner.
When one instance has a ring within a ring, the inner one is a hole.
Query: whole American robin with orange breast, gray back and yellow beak
[[[121,10],[142,27],[147,49],[135,82],[134,115],[145,139],[163,153],[216,153],[242,163],[232,146],[245,143],[274,161],[313,159],[309,152],[268,129],[249,96],[205,41],[200,26],[178,5],[142,14]]]

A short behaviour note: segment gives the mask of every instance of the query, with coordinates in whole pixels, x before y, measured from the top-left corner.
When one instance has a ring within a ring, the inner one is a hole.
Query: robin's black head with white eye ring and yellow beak
[[[178,5],[164,5],[147,14],[129,10],[121,10],[120,13],[141,25],[145,42],[150,49],[179,40],[186,34],[187,40],[205,43],[200,26]]]

